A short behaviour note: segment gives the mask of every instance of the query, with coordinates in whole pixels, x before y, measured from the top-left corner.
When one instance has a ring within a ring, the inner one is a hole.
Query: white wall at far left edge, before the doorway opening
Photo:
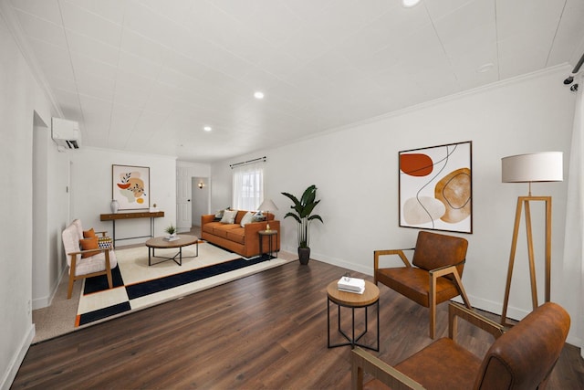
[[[51,106],[0,9],[0,388],[8,388],[31,343],[33,129]]]

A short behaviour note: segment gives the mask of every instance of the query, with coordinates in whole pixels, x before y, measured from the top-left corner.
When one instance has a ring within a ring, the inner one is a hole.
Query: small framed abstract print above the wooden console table
[[[111,196],[120,210],[150,207],[150,168],[147,166],[111,165]]]

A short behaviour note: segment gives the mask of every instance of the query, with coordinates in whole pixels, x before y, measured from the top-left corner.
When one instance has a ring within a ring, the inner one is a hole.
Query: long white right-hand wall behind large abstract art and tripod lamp
[[[312,258],[372,274],[373,250],[412,248],[418,230],[399,227],[398,153],[451,142],[473,142],[473,221],[464,286],[474,306],[500,313],[505,292],[516,197],[527,184],[501,183],[501,157],[564,152],[568,163],[575,96],[562,85],[566,68],[548,69],[449,99],[434,101],[302,142],[212,165],[212,208],[231,203],[229,163],[266,155],[266,197],[280,219],[296,195],[318,186],[316,212],[325,223],[311,228]],[[553,196],[552,300],[575,299],[562,284],[566,182],[534,184],[534,195]],[[543,208],[532,206],[534,235],[543,233]],[[294,221],[282,224],[282,248],[295,252]],[[525,232],[520,232],[508,314],[531,311]],[[542,237],[536,237],[543,243]],[[543,301],[543,248],[537,248]]]

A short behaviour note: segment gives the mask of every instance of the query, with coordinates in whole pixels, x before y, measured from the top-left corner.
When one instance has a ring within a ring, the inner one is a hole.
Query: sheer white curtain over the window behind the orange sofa
[[[264,163],[249,163],[233,169],[233,208],[255,211],[264,199]]]

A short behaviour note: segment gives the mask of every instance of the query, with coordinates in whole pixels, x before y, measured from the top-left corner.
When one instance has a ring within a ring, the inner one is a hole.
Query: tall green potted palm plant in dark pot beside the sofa
[[[295,195],[288,193],[282,193],[282,195],[287,196],[293,203],[290,208],[294,211],[289,211],[284,217],[291,216],[298,223],[298,259],[300,260],[300,264],[308,264],[308,259],[310,258],[310,241],[308,236],[310,223],[315,219],[323,222],[320,216],[312,214],[312,211],[320,202],[320,199],[316,200],[317,186],[314,184],[310,185],[304,191],[300,200]]]

